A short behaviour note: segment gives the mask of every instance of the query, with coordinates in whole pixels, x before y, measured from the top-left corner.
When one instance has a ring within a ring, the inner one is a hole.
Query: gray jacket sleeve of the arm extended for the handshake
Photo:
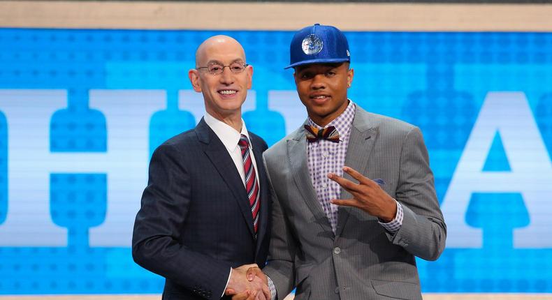
[[[270,194],[272,195],[272,230],[270,236],[270,246],[268,248],[268,261],[263,272],[266,273],[277,291],[277,299],[284,299],[295,286],[294,260],[297,250],[296,239],[289,230],[289,225],[282,211],[281,204],[270,180],[270,166],[263,156],[263,163],[268,174],[270,184]]]

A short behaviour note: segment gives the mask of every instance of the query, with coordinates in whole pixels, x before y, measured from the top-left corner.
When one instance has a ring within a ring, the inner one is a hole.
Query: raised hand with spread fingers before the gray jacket
[[[337,176],[337,174],[329,173],[328,178],[337,182],[351,195],[352,199],[331,200],[331,203],[342,205],[345,207],[356,207],[384,220],[391,222],[397,213],[397,203],[388,195],[379,184],[371,179],[356,172],[351,167],[343,167],[343,171],[351,175],[358,183],[354,183],[349,179]],[[381,180],[381,179],[380,179]]]

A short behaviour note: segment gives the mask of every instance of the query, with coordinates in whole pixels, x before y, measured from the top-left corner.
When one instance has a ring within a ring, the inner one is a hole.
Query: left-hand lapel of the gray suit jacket
[[[318,202],[317,193],[310,180],[309,167],[307,166],[307,139],[305,130],[301,127],[293,139],[287,140],[287,156],[291,163],[291,174],[297,189],[303,200],[314,215],[317,223],[325,231],[332,232],[330,221]]]

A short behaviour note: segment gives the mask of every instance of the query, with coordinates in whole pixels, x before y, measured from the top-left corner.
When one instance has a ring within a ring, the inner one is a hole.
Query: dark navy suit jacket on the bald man
[[[253,133],[249,137],[261,188],[256,237],[240,174],[203,119],[154,151],[132,255],[166,278],[163,299],[219,299],[231,267],[265,264],[270,195],[261,159],[267,145]]]

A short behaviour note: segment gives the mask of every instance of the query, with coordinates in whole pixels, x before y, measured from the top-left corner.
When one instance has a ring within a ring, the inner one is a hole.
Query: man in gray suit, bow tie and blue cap
[[[414,257],[437,260],[446,239],[421,131],[347,98],[354,70],[339,29],[305,27],[290,52],[309,117],[263,154],[273,299],[293,287],[296,299],[421,299]]]

